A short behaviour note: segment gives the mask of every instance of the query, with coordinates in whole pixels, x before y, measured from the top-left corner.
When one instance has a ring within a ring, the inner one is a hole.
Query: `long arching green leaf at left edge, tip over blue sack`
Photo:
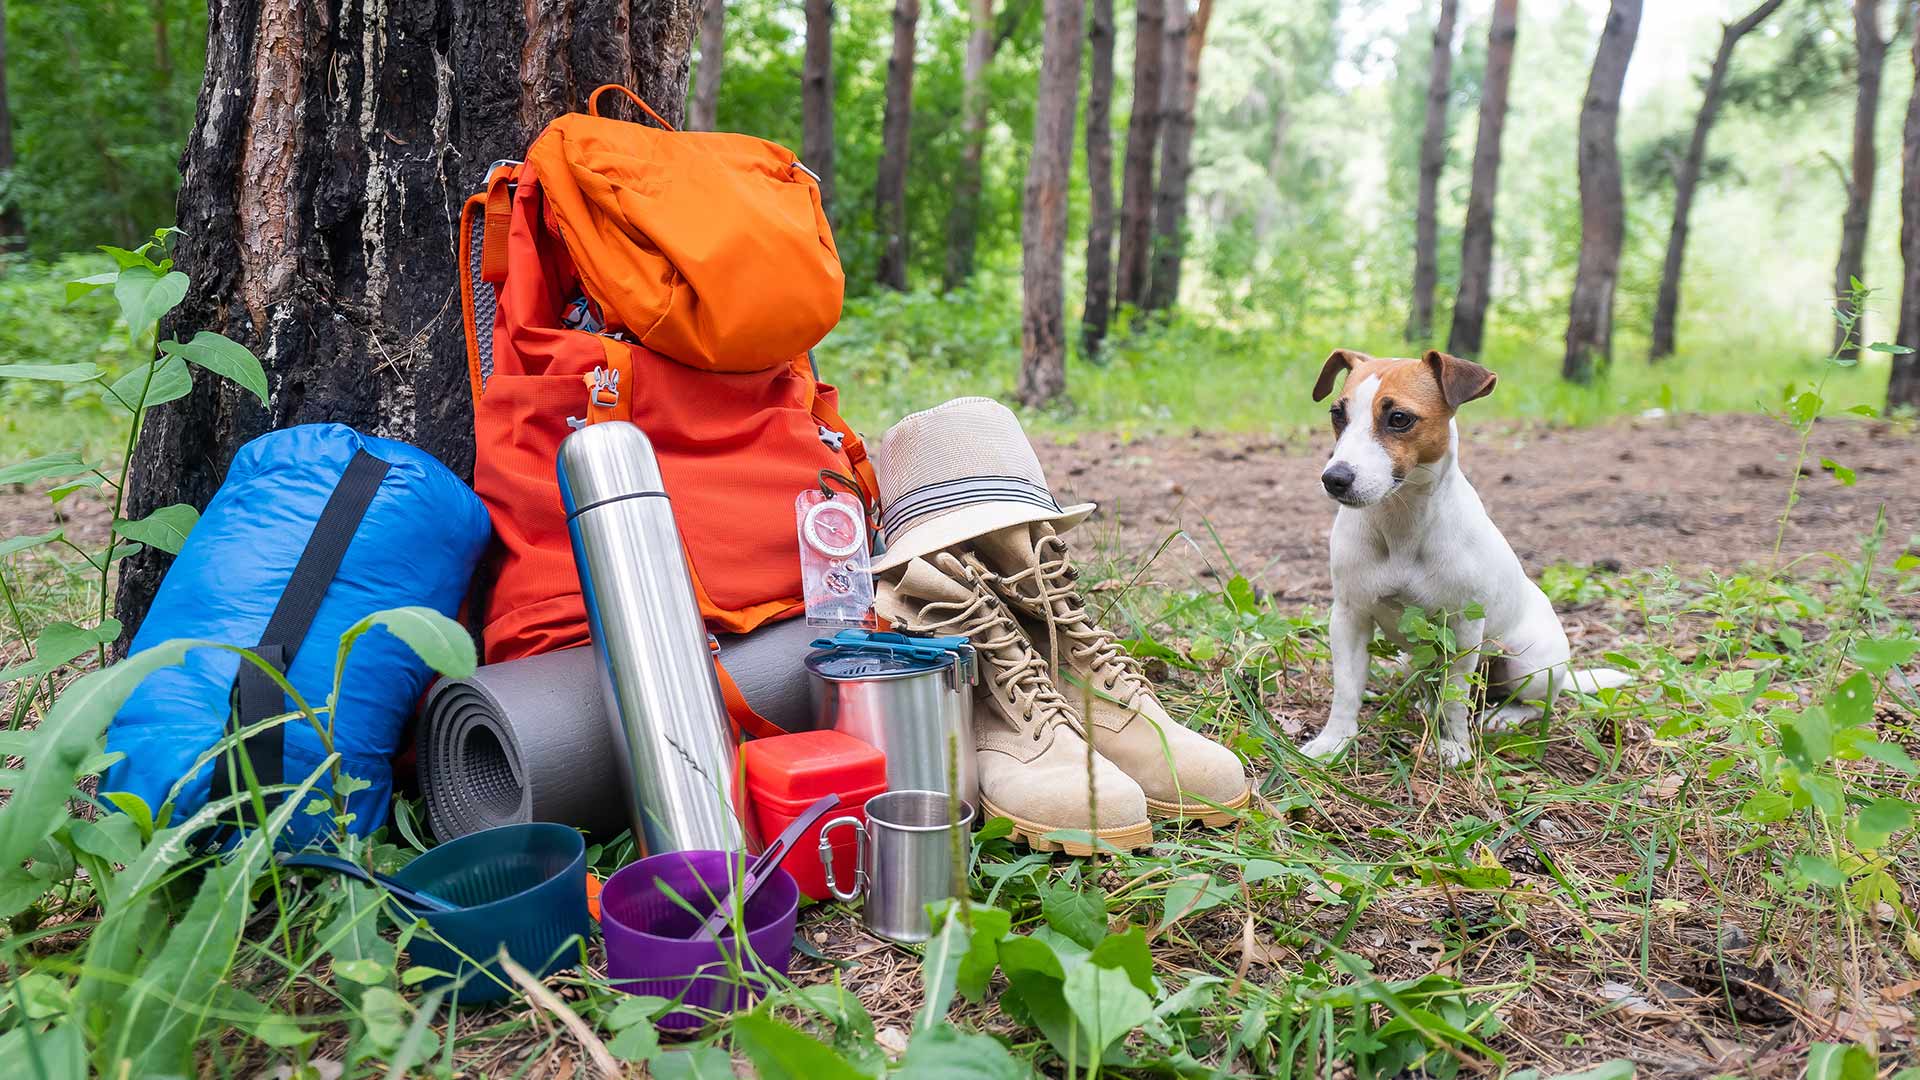
[[[81,765],[100,746],[100,732],[148,675],[180,663],[188,650],[209,642],[173,640],[134,653],[113,667],[73,680],[40,721],[23,755],[27,767],[0,807],[0,867],[17,867],[67,817],[67,794]]]

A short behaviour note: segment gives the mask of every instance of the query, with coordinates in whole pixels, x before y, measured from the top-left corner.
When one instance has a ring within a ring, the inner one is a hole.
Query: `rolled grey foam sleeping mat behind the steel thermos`
[[[812,728],[804,659],[816,636],[804,619],[720,636],[720,661],[747,703],[789,732]],[[442,842],[524,821],[599,838],[628,826],[591,648],[442,678],[419,738],[426,821]]]

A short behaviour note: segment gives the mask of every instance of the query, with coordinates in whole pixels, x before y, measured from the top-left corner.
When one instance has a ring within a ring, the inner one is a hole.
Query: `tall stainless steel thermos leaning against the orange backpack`
[[[653,444],[624,421],[589,425],[557,469],[634,840],[649,855],[758,849]]]

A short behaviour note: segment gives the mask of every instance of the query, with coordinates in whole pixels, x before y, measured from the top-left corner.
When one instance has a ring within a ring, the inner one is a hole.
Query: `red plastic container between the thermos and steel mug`
[[[828,897],[820,867],[820,826],[841,815],[866,821],[866,799],[887,790],[887,755],[841,732],[795,732],[756,738],[739,748],[747,763],[747,794],[760,822],[760,836],[780,836],[820,796],[835,794],[841,805],[808,828],[780,865],[812,899]],[[833,872],[852,880],[852,830],[833,842]]]

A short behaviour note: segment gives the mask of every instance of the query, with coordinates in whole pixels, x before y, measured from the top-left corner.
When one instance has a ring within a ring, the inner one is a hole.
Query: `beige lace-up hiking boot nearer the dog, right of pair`
[[[1014,609],[1033,648],[1060,665],[1068,701],[1087,709],[1091,698],[1083,721],[1094,749],[1140,784],[1154,817],[1227,824],[1252,799],[1240,759],[1169,717],[1140,663],[1087,613],[1066,542],[1050,525],[989,532],[966,561]]]

